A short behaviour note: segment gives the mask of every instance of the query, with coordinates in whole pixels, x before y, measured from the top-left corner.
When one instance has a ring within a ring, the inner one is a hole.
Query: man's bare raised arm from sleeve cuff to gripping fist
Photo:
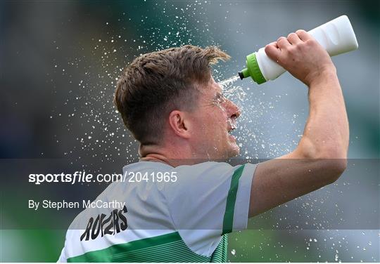
[[[334,183],[346,169],[348,118],[336,68],[303,30],[281,37],[265,52],[309,88],[310,111],[296,150],[258,165],[249,216]]]

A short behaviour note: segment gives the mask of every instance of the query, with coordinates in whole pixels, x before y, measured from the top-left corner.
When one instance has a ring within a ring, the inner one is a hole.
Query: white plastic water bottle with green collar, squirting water
[[[309,34],[321,44],[330,56],[354,51],[357,49],[357,40],[353,27],[347,15],[320,25],[309,31]],[[247,56],[246,69],[239,72],[241,79],[252,77],[253,81],[262,84],[268,80],[274,80],[286,70],[270,59],[264,48]]]

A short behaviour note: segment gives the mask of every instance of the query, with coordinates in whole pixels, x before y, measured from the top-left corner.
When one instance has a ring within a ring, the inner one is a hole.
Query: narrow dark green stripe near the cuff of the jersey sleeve
[[[229,186],[227,195],[226,211],[224,211],[222,235],[232,232],[232,227],[234,226],[236,194],[239,187],[239,179],[243,173],[243,169],[244,165],[241,165],[239,169],[236,169],[234,175],[232,175],[231,185]]]

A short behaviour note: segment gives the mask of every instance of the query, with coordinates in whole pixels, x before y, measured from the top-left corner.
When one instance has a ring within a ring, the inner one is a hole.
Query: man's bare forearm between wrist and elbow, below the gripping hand
[[[298,152],[304,157],[346,159],[348,118],[335,67],[321,72],[309,87],[310,112]]]

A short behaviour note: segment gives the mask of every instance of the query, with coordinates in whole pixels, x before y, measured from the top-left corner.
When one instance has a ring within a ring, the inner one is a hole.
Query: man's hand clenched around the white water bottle
[[[325,71],[335,72],[327,51],[305,30],[280,37],[265,46],[265,53],[307,86]]]

